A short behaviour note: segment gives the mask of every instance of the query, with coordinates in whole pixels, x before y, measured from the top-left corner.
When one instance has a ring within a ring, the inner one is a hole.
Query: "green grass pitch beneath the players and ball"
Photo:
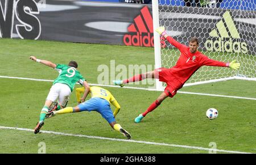
[[[154,65],[153,48],[12,39],[1,39],[0,45],[0,76],[49,80],[57,77],[55,70],[29,60],[31,55],[59,64],[75,60],[88,83],[94,84],[100,74],[98,66],[110,66],[110,60],[115,60],[115,65]],[[0,84],[0,126],[34,129],[52,82],[0,78]],[[145,84],[129,86],[147,87]],[[183,87],[180,91],[256,98],[255,86],[254,81],[232,80]],[[256,153],[256,100],[178,93],[135,124],[134,118],[161,92],[105,88],[121,105],[117,122],[135,141],[204,148],[215,142],[219,150]],[[69,106],[75,105],[73,92]],[[205,116],[212,107],[219,112],[215,120]],[[42,130],[125,139],[97,112],[59,115],[46,120]],[[46,143],[46,153],[208,153],[184,147],[0,129],[0,153],[38,153],[40,142]]]

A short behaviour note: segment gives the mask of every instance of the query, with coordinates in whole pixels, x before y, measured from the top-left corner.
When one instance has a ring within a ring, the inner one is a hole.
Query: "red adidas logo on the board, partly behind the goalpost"
[[[154,47],[153,19],[147,6],[141,9],[141,14],[134,18],[134,23],[127,28],[128,34],[123,36],[125,45]],[[162,46],[166,46],[161,39]]]

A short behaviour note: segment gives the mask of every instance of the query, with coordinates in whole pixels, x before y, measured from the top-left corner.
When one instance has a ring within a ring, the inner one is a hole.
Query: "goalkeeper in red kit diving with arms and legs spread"
[[[196,37],[192,37],[189,40],[189,46],[178,43],[172,37],[168,36],[164,27],[159,27],[156,29],[162,37],[166,38],[167,41],[174,45],[180,50],[180,57],[176,62],[176,65],[171,68],[158,68],[153,71],[148,71],[147,73],[135,75],[129,79],[123,81],[117,80],[113,81],[115,85],[123,87],[126,83],[142,81],[146,78],[158,78],[159,81],[167,83],[164,92],[148,107],[148,109],[135,118],[135,122],[141,122],[141,120],[147,115],[148,112],[152,112],[156,107],[158,107],[164,99],[169,97],[174,97],[177,90],[183,87],[183,84],[195,73],[201,66],[221,66],[221,67],[231,67],[232,69],[238,69],[240,67],[236,60],[232,62],[221,62],[208,58],[201,52],[197,50],[199,47],[199,41]]]

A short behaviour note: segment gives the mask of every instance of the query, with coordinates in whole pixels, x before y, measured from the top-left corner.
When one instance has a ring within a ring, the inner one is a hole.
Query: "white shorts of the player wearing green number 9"
[[[68,103],[70,95],[71,90],[67,84],[56,83],[51,87],[46,100],[55,101],[58,99],[58,103],[65,107]]]

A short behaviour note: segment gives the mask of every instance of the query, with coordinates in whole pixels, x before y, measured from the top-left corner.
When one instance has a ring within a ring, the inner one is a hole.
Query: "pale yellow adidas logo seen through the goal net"
[[[209,33],[209,36],[213,38],[205,42],[205,48],[208,51],[215,50],[216,52],[247,53],[247,44],[239,42],[241,37],[229,11],[223,14],[223,19],[224,21],[220,20],[216,23],[217,29],[213,29]]]

